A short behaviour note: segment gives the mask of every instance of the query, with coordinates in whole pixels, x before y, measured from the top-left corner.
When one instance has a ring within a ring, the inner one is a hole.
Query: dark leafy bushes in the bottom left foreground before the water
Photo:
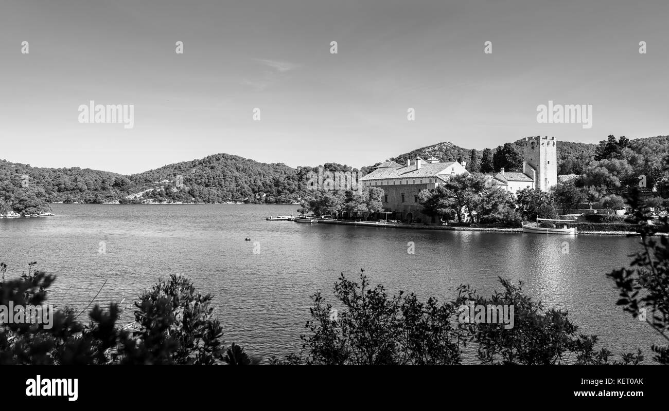
[[[5,281],[0,263],[0,305],[41,305],[56,277],[33,270]],[[185,277],[171,275],[134,303],[133,328],[118,325],[120,308],[95,305],[88,323],[66,308],[54,312],[50,329],[39,323],[0,324],[0,364],[252,364],[238,346],[225,350],[213,316],[211,295],[195,291]],[[83,312],[83,311],[82,311]],[[81,314],[81,313],[80,313]]]

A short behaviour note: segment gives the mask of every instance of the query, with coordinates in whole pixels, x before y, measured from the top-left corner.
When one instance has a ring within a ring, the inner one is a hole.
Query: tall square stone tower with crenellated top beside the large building
[[[523,172],[529,176],[535,174],[534,188],[548,191],[557,184],[557,141],[555,137],[525,138],[524,155]]]

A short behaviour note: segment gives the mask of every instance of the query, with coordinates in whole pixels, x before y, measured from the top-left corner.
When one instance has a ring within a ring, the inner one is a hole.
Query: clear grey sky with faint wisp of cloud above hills
[[[361,167],[445,141],[666,135],[668,17],[666,0],[2,0],[0,158]],[[133,127],[80,123],[91,100],[132,104]],[[591,105],[591,128],[539,123],[549,101]]]

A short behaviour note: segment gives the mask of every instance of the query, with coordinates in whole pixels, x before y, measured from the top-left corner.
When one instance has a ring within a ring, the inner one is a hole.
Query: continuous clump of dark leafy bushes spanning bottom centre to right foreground
[[[641,352],[621,354],[596,350],[597,337],[578,333],[577,325],[562,310],[545,310],[522,291],[500,279],[504,291],[482,297],[468,285],[458,288],[450,303],[400,291],[390,297],[382,285],[371,287],[362,270],[360,282],[343,274],[334,283],[338,307],[321,293],[311,296],[311,319],[301,335],[302,350],[272,364],[461,364],[467,344],[478,345],[482,364],[638,364]],[[462,323],[458,307],[514,305],[514,326],[498,323]]]

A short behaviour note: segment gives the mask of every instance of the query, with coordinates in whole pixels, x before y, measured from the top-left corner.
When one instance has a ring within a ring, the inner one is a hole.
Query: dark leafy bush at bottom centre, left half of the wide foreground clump
[[[343,273],[334,283],[344,308],[336,318],[320,292],[311,296],[302,353],[274,357],[274,364],[460,364],[452,305],[403,291],[389,297],[382,285],[370,287],[361,271],[359,283]]]

